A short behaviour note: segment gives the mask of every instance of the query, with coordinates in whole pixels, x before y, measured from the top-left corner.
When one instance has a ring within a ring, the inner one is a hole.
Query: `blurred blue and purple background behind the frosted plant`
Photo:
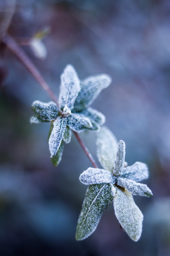
[[[48,28],[37,46],[30,42]],[[72,135],[60,165],[48,148],[49,123],[31,125],[34,100],[50,101],[0,43],[0,254],[81,256],[170,255],[170,1],[1,0],[0,35],[9,33],[58,96],[72,64],[80,79],[107,73],[113,83],[93,107],[126,143],[126,161],[146,162],[154,196],[135,197],[144,215],[141,239],[120,229],[113,205],[97,230],[75,241],[91,166]],[[40,49],[37,56],[35,47]],[[80,134],[96,158],[95,133]]]

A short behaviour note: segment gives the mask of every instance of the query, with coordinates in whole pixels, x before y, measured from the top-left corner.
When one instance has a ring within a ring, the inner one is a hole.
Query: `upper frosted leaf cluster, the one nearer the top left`
[[[80,81],[73,66],[67,65],[61,75],[60,108],[53,101],[33,102],[35,116],[31,117],[30,122],[51,122],[49,149],[54,166],[61,161],[64,142],[71,140],[71,130],[97,130],[105,122],[105,116],[89,106],[111,81],[106,74],[89,76]]]

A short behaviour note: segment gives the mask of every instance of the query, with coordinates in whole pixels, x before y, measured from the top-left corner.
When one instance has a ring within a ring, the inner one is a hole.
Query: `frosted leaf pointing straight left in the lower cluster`
[[[113,174],[99,168],[89,167],[80,175],[80,181],[85,185],[114,182]]]

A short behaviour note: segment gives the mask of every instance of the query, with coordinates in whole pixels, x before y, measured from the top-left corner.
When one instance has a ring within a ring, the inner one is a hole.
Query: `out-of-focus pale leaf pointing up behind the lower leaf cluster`
[[[117,152],[117,140],[106,127],[101,127],[96,139],[97,156],[104,169],[113,171]]]

